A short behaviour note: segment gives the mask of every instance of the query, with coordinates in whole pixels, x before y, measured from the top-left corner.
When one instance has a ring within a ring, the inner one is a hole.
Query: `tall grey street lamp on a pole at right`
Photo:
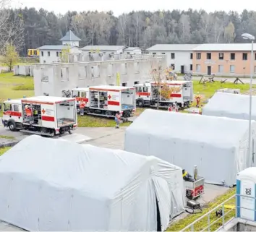
[[[251,145],[252,145],[252,74],[253,74],[253,43],[255,40],[255,37],[253,35],[250,35],[248,33],[242,34],[242,38],[244,40],[251,40],[252,42],[252,51],[251,51],[251,77],[249,81],[249,147],[248,147],[248,153],[251,155]],[[252,154],[252,162],[254,164],[254,154]]]

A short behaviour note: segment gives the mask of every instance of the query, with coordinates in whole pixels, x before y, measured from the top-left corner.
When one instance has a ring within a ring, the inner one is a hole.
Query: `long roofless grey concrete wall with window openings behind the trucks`
[[[93,85],[116,85],[116,74],[120,85],[135,85],[135,82],[150,80],[152,67],[163,66],[163,57],[116,61],[91,61],[68,64],[36,65],[34,69],[35,95],[61,96],[62,91],[75,87]]]

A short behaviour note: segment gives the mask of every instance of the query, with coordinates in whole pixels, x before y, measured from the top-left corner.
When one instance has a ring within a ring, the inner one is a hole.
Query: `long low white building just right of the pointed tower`
[[[100,46],[100,45],[93,45],[93,46],[85,46],[81,48],[82,52],[85,53],[124,53],[124,49],[127,48],[127,46]]]

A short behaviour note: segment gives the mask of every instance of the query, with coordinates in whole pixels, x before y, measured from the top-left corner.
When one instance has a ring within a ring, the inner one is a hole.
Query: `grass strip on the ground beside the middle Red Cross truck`
[[[100,116],[77,116],[79,127],[114,127],[116,126],[116,121],[114,119],[107,119]],[[124,122],[120,126],[129,126],[130,122]]]

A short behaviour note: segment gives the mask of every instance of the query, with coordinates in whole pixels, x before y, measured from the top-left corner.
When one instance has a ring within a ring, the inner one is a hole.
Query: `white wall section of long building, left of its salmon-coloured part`
[[[166,66],[169,67],[174,64],[174,72],[181,73],[182,66],[184,66],[184,72],[192,72],[192,59],[190,56],[192,51],[150,51],[150,53],[166,55]],[[172,59],[171,53],[174,53],[174,59]]]

